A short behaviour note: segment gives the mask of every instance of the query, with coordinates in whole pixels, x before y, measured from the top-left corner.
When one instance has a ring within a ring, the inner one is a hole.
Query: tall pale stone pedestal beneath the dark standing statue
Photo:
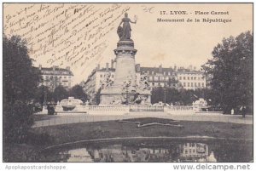
[[[149,97],[145,100],[150,104],[150,91],[143,91],[137,88],[135,71],[135,54],[132,40],[121,40],[117,48],[113,50],[116,55],[116,68],[113,86],[102,89],[101,105],[125,105],[134,100],[137,96]]]

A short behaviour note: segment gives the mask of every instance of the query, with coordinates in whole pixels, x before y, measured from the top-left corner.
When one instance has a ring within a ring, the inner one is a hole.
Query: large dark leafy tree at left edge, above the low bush
[[[12,103],[32,100],[38,88],[39,73],[32,67],[26,41],[18,36],[3,36],[3,100]]]

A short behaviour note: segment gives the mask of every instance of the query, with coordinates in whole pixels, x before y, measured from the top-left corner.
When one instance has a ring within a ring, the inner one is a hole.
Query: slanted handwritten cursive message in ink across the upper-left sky
[[[124,4],[28,3],[3,16],[3,29],[26,38],[34,60],[79,68],[101,60],[108,34],[129,9]]]

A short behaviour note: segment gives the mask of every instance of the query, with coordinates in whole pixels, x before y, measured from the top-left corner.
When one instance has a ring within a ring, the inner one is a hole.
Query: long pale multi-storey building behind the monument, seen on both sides
[[[189,68],[183,68],[174,66],[169,68],[159,67],[141,67],[140,64],[136,66],[137,85],[140,83],[140,79],[143,76],[148,77],[148,83],[150,89],[156,87],[167,87],[177,89],[193,89],[206,88],[205,74],[202,71],[197,71],[192,66]],[[100,68],[97,66],[90,76],[81,83],[86,94],[93,98],[99,88],[102,88],[104,80],[109,77],[114,80],[115,62],[111,61],[111,66],[106,64],[106,67]]]

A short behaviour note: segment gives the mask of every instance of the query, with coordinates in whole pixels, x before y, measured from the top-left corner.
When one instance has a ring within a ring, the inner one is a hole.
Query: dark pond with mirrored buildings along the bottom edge
[[[250,162],[253,143],[125,141],[66,147],[44,154],[45,162]]]

